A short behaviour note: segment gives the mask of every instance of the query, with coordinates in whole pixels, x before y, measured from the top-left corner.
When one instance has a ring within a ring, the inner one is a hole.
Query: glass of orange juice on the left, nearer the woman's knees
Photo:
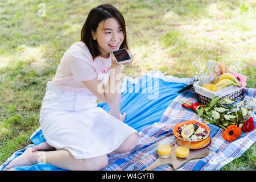
[[[156,146],[158,147],[159,158],[170,158],[170,156],[171,156],[171,140],[170,140],[170,138],[164,137],[163,139],[156,142]]]

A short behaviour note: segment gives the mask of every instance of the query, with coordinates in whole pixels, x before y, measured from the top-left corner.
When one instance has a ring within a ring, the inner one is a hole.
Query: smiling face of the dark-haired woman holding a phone
[[[124,39],[122,27],[116,18],[102,20],[96,32],[92,31],[92,36],[98,43],[102,57],[109,57],[109,53],[118,50]]]

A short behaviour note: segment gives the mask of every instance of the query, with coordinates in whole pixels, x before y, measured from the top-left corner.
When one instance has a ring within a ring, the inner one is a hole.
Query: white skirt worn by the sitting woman
[[[138,134],[97,107],[96,101],[92,94],[63,92],[49,81],[39,121],[47,143],[76,159],[87,159],[109,154],[130,134]]]

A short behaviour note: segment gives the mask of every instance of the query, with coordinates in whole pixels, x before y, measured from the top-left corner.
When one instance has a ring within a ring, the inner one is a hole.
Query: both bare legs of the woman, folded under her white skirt
[[[138,142],[137,133],[130,134],[123,143],[108,155],[124,154],[133,150]],[[7,166],[6,170],[17,166],[31,166],[36,163],[47,163],[52,166],[68,169],[68,170],[101,170],[108,165],[108,156],[102,155],[96,158],[89,159],[75,159],[68,150],[54,150],[48,144],[43,144],[40,147],[46,147],[48,150],[53,151],[34,151],[32,147],[26,149],[22,155],[13,159]],[[39,147],[39,149],[40,149]],[[42,148],[41,148],[42,149]]]

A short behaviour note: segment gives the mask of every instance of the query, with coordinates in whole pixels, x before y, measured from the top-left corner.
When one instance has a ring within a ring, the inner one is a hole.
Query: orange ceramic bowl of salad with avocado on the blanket
[[[191,150],[199,150],[210,143],[210,128],[203,122],[183,121],[177,123],[172,130],[175,139],[179,138],[184,143],[190,142]]]

